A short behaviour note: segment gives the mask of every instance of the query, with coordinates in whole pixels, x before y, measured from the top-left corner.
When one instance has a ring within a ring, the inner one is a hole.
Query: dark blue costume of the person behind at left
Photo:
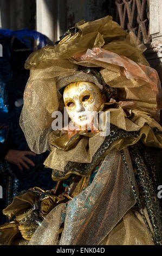
[[[24,69],[24,63],[33,51],[53,43],[45,35],[29,29],[21,31],[1,29],[0,44],[3,46],[3,57],[0,57],[0,123],[9,125],[5,143],[11,149],[29,151],[19,125],[23,93],[29,78],[29,70]],[[1,131],[2,142],[4,136],[4,131]],[[23,171],[14,164],[1,161],[0,185],[3,187],[3,199],[0,199],[0,224],[7,221],[2,215],[2,209],[11,202],[15,194],[33,186],[42,187],[44,190],[55,186],[55,182],[51,179],[51,169],[43,166],[47,156],[47,152],[28,156],[35,163],[35,167],[30,166],[30,170],[23,169]]]

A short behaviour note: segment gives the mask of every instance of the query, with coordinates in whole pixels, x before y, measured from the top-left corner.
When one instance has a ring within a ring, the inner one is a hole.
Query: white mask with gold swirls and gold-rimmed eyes
[[[70,119],[79,127],[89,125],[103,103],[100,89],[91,82],[68,84],[63,100]]]

